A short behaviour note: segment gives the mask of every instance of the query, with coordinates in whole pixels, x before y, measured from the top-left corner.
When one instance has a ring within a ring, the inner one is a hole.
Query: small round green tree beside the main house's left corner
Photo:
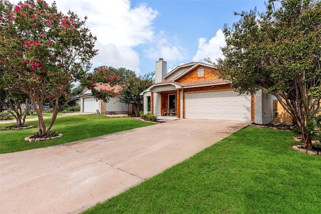
[[[150,72],[131,77],[120,91],[119,102],[131,104],[136,117],[139,117],[139,112],[143,110],[143,97],[139,94],[154,83],[154,74],[155,72]]]

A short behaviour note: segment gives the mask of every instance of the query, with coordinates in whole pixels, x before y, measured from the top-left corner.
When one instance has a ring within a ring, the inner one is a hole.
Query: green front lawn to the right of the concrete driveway
[[[246,127],[84,213],[321,213],[321,157]]]

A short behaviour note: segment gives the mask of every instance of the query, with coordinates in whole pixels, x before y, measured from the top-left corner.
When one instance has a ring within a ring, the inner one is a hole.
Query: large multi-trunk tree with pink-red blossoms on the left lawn
[[[38,136],[49,134],[57,114],[71,97],[74,82],[86,77],[96,38],[85,27],[85,17],[63,15],[56,4],[27,0],[16,6],[0,1],[0,65],[6,88],[26,94],[38,115]],[[53,108],[46,128],[42,111]]]

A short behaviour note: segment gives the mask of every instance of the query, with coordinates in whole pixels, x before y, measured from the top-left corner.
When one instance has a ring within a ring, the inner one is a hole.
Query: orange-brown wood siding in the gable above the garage
[[[199,77],[198,69],[204,69],[204,76]],[[198,66],[189,73],[185,74],[183,77],[176,80],[178,83],[182,82],[189,82],[189,81],[195,81],[195,80],[205,80],[205,79],[216,79],[218,78],[218,71],[214,68],[209,68],[205,66]]]

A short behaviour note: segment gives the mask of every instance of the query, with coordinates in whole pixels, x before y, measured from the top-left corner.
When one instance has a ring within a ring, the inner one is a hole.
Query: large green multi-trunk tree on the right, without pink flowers
[[[295,119],[304,147],[319,124],[321,97],[321,2],[268,1],[266,12],[235,13],[224,26],[224,59],[217,68],[239,93],[273,94]]]

